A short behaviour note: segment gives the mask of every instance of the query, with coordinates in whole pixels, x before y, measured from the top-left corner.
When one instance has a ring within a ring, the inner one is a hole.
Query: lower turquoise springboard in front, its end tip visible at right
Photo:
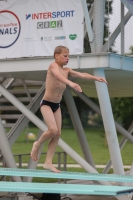
[[[30,192],[56,194],[84,194],[120,196],[133,193],[132,187],[80,185],[80,184],[51,184],[27,182],[0,182],[1,192]]]

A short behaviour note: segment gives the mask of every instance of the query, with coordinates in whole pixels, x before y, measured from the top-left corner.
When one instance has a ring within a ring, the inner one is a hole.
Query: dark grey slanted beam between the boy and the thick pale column
[[[85,160],[95,168],[95,164],[91,155],[90,148],[88,146],[87,139],[85,137],[84,129],[74,102],[74,99],[72,97],[72,94],[69,90],[69,88],[66,88],[64,92],[64,98],[67,104],[67,108],[69,110],[69,114],[71,116],[73,126],[75,128],[75,131],[77,133],[79,143],[83,152],[83,155],[85,157]]]

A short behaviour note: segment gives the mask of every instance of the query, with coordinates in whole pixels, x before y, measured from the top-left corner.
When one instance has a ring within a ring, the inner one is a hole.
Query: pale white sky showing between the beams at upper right
[[[125,14],[127,9],[125,7]],[[121,18],[121,1],[113,0],[113,14],[110,15],[109,21],[109,29],[110,32],[113,33],[117,25],[120,23]],[[131,52],[129,50],[130,46],[133,46],[133,17],[130,18],[127,25],[125,26],[125,53]],[[117,37],[113,49],[117,51],[117,53],[121,53],[121,36]]]

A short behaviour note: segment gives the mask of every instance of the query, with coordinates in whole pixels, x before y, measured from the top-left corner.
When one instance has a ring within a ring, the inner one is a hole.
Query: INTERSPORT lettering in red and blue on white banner
[[[64,18],[64,17],[74,17],[74,10],[67,11],[57,11],[57,12],[44,12],[44,13],[32,13],[26,15],[26,20],[31,18],[32,20],[37,19],[51,19],[51,18]]]

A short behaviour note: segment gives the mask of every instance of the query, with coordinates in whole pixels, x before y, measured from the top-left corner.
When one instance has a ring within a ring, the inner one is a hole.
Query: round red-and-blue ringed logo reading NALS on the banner
[[[19,38],[21,24],[18,16],[9,10],[0,11],[0,48],[12,46]]]

